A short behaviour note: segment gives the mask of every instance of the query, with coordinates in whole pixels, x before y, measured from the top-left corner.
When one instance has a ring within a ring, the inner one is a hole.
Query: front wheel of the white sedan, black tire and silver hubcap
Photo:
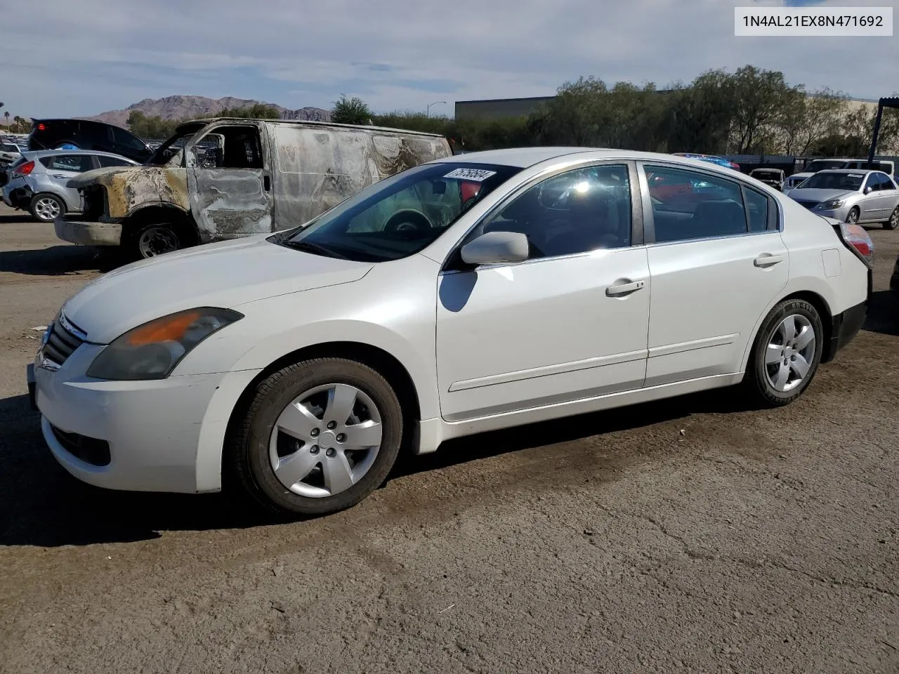
[[[324,515],[384,482],[402,436],[399,400],[377,371],[312,359],[263,380],[227,453],[237,481],[266,509]]]

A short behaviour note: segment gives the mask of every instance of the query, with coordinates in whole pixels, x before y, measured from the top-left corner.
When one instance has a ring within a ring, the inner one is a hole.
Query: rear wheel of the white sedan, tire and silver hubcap
[[[814,378],[822,350],[823,325],[817,309],[805,300],[784,300],[761,324],[745,384],[762,404],[792,403]]]

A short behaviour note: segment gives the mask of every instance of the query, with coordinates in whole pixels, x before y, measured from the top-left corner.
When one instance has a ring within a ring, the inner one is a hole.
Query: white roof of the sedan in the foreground
[[[432,164],[501,164],[518,168],[530,168],[530,166],[562,157],[584,160],[621,159],[622,161],[675,162],[677,164],[695,166],[704,171],[719,171],[725,174],[738,173],[720,164],[711,164],[691,157],[662,155],[654,152],[636,152],[609,147],[512,147],[505,150],[484,150],[482,152],[467,152],[465,155],[441,157],[441,159],[432,160]]]

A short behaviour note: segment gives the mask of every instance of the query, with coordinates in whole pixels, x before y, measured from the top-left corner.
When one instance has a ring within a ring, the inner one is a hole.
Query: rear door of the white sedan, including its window
[[[691,208],[653,197],[647,208],[653,292],[645,386],[734,374],[761,314],[787,285],[776,204],[761,191],[700,171],[664,165],[645,171],[677,173],[715,194]]]

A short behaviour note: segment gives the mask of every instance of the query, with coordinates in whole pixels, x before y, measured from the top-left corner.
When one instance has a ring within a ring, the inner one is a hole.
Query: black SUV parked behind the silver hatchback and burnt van
[[[130,131],[102,121],[33,120],[29,149],[99,150],[127,156],[143,164],[153,154],[147,143]]]

